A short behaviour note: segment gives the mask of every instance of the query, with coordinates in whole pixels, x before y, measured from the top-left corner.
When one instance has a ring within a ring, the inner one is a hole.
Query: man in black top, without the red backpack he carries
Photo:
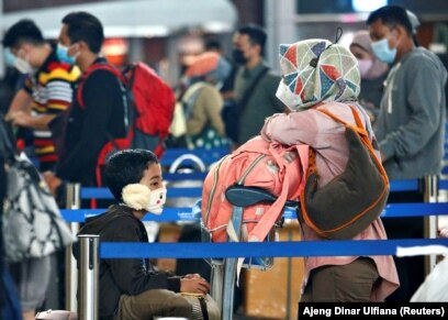
[[[63,180],[99,186],[96,169],[100,152],[111,140],[126,135],[126,102],[121,81],[110,70],[96,69],[89,73],[93,65],[108,64],[100,56],[103,40],[102,24],[90,13],[72,12],[63,19],[59,46],[66,49],[68,57],[75,58],[82,71],[80,81],[83,84],[78,84],[75,91],[65,132],[64,153],[56,173],[45,174],[53,191]]]

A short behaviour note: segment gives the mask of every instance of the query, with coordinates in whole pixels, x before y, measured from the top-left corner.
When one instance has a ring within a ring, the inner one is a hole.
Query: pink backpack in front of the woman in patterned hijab
[[[307,145],[287,147],[261,136],[222,158],[208,174],[202,189],[202,221],[212,241],[226,242],[228,236],[234,241],[264,241],[281,219],[287,200],[299,200],[307,162]],[[277,197],[273,203],[244,208],[240,235],[234,233],[234,208],[225,195],[235,185],[261,188]]]

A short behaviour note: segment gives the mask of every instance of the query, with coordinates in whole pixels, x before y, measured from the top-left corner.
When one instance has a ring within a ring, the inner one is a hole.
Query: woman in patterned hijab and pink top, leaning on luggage
[[[310,145],[316,155],[317,187],[323,187],[345,170],[349,150],[345,126],[317,109],[325,109],[354,125],[352,112],[356,112],[376,146],[369,117],[357,102],[358,62],[338,44],[305,40],[280,46],[280,66],[283,77],[277,98],[291,112],[268,118],[261,136],[285,145]],[[332,212],[323,214],[332,219]],[[302,223],[302,239],[326,240],[305,223]],[[379,218],[354,236],[354,240],[384,239],[387,234]],[[311,256],[305,258],[301,301],[383,301],[397,287],[392,256]]]

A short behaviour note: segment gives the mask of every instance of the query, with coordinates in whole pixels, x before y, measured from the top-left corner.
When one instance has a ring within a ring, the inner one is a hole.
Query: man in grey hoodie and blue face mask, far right
[[[416,16],[385,5],[370,13],[367,25],[378,59],[391,65],[373,128],[384,168],[392,180],[439,175],[444,157],[447,70],[440,59],[413,40]],[[391,192],[389,202],[418,202],[423,195]],[[389,218],[390,239],[424,236],[423,218]],[[424,279],[424,258],[395,258],[401,288],[390,301],[408,301]]]

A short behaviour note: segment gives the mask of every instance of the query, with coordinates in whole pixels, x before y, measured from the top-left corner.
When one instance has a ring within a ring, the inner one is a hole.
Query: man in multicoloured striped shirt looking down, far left
[[[32,129],[40,169],[54,169],[58,158],[48,123],[70,106],[72,85],[80,71],[64,51],[43,38],[31,20],[21,20],[12,25],[4,34],[3,45],[15,56],[19,71],[29,75],[11,103],[7,120]]]

